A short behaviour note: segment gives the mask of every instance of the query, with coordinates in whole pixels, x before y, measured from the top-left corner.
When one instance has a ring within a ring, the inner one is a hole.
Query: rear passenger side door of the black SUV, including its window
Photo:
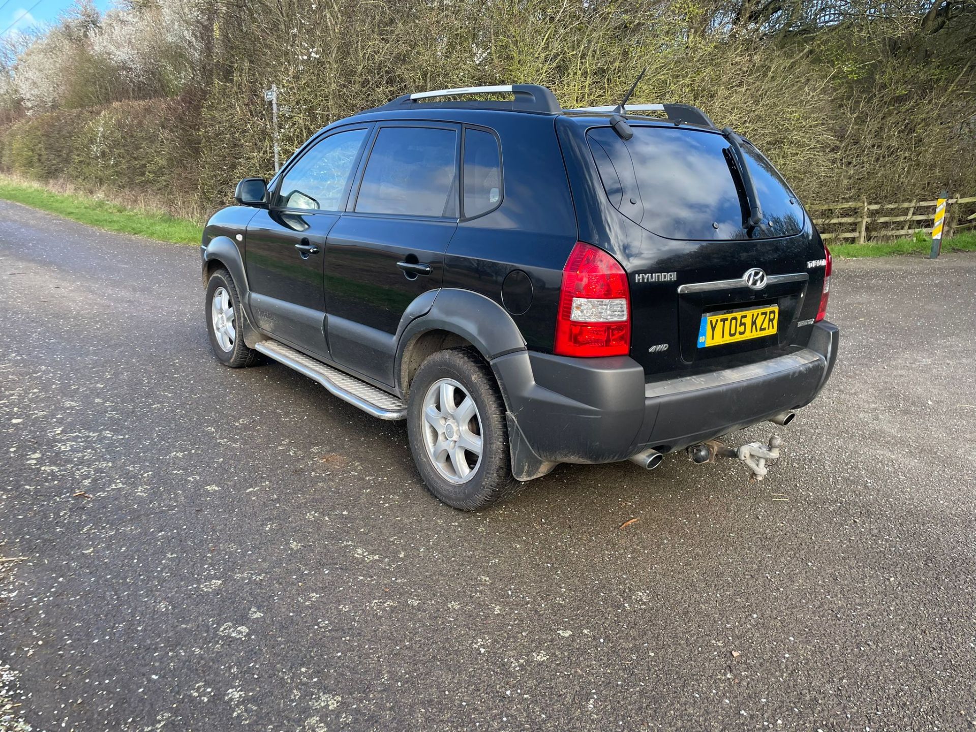
[[[333,358],[392,385],[395,335],[407,305],[440,287],[458,227],[460,129],[378,124],[359,181],[326,244]]]

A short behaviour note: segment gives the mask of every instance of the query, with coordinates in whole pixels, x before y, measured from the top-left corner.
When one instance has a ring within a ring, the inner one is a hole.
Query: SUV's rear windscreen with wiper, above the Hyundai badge
[[[622,140],[610,127],[587,138],[610,202],[635,224],[671,239],[792,236],[803,210],[790,188],[752,144],[743,154],[762,209],[762,224],[743,227],[748,203],[731,146],[717,133],[686,127],[638,127]]]

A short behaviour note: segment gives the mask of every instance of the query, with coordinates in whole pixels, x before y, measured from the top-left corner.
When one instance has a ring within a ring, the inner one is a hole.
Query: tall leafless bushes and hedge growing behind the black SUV
[[[76,160],[79,183],[191,190],[213,207],[236,179],[270,173],[272,83],[289,150],[407,91],[510,81],[546,84],[565,106],[607,103],[647,65],[635,101],[702,106],[807,202],[976,192],[974,19],[965,2],[908,0],[132,0],[8,54],[0,166],[47,167],[18,115],[53,110],[50,135],[84,142],[91,126],[58,110],[95,106],[137,172],[100,178],[92,155]],[[160,112],[155,140],[101,111],[175,95],[195,116]]]

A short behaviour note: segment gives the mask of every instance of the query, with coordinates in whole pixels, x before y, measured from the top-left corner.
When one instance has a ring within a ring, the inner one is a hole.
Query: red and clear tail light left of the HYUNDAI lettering
[[[602,249],[582,241],[562,268],[553,350],[563,356],[630,352],[627,272]]]

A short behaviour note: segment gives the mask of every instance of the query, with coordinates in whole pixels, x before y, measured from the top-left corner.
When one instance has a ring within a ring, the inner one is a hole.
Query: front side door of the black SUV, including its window
[[[323,270],[326,240],[346,205],[370,127],[346,127],[310,145],[268,193],[248,224],[245,267],[258,327],[328,357]]]

